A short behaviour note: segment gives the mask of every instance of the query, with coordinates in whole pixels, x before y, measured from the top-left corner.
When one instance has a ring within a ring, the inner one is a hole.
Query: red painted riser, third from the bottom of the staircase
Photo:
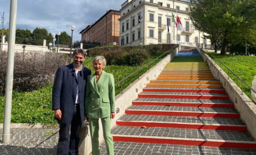
[[[215,117],[215,118],[234,118],[240,117],[239,113],[213,113],[213,112],[184,112],[184,111],[156,111],[156,110],[125,110],[126,114],[145,114],[145,115],[168,115],[184,117]]]

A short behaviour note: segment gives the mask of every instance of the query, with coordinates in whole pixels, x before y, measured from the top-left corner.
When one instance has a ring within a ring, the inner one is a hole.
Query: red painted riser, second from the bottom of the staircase
[[[119,126],[129,127],[155,127],[155,128],[181,128],[181,129],[204,129],[204,130],[228,130],[246,132],[246,126],[233,125],[205,125],[205,124],[184,124],[184,123],[169,123],[169,122],[141,122],[141,121],[117,121]]]

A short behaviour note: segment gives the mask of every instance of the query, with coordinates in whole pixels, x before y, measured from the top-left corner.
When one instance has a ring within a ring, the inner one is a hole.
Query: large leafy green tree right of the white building
[[[221,54],[226,54],[229,43],[239,44],[256,30],[254,8],[255,0],[191,0],[190,18],[211,42],[220,41]],[[248,42],[255,41],[254,36]]]

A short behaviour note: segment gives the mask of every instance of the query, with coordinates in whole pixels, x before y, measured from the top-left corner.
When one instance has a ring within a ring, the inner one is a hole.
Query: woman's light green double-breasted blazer
[[[110,117],[115,112],[115,81],[111,73],[103,70],[96,83],[95,73],[87,76],[86,113],[88,118],[99,119]]]

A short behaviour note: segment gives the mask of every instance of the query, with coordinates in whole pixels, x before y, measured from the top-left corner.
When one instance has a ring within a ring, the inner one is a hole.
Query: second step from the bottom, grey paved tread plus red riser
[[[118,121],[119,126],[158,127],[205,130],[228,130],[246,132],[247,127],[239,119],[170,117],[156,115],[123,115]]]

